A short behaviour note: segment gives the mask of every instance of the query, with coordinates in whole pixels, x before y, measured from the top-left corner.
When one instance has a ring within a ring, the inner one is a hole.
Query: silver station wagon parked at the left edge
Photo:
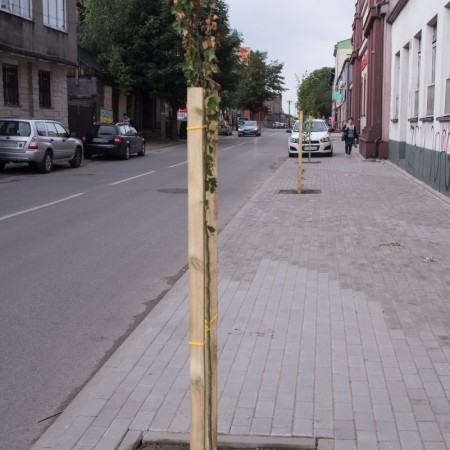
[[[0,118],[0,170],[6,163],[28,163],[41,173],[53,162],[67,161],[80,167],[82,142],[55,120]]]

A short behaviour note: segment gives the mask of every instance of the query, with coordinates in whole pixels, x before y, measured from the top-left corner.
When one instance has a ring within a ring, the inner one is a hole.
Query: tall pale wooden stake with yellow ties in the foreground
[[[205,445],[205,185],[204,90],[188,88],[188,252],[191,450]]]

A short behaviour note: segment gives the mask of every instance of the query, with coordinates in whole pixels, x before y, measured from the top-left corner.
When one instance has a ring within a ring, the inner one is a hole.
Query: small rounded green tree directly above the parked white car
[[[305,73],[297,90],[299,109],[305,116],[331,115],[331,87],[328,85],[331,67]]]

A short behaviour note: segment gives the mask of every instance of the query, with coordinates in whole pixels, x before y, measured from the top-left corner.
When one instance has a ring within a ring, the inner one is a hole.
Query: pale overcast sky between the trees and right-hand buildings
[[[267,52],[269,61],[284,63],[288,100],[297,101],[296,75],[334,67],[334,45],[352,36],[355,0],[225,0],[231,28],[244,46]],[[291,103],[293,113],[294,103]]]

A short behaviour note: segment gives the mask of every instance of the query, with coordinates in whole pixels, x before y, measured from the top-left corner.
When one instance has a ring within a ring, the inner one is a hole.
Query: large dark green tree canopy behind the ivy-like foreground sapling
[[[182,40],[174,27],[172,1],[79,0],[83,35],[81,45],[107,67],[120,92],[139,88],[164,98],[174,109],[186,101]],[[217,1],[217,50],[224,99],[232,98],[239,73],[241,36],[230,30],[228,6]]]

